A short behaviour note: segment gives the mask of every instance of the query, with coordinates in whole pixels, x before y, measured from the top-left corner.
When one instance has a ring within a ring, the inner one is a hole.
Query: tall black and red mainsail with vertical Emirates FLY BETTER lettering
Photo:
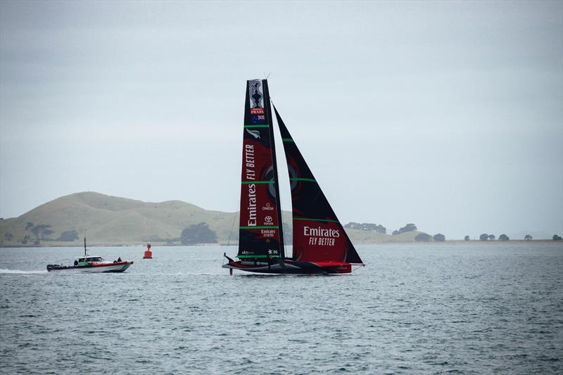
[[[238,258],[283,258],[272,110],[266,80],[246,82]]]

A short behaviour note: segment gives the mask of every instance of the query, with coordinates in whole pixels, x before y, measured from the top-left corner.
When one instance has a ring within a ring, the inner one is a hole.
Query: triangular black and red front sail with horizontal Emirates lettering
[[[293,205],[293,259],[363,264],[274,107],[284,143]]]

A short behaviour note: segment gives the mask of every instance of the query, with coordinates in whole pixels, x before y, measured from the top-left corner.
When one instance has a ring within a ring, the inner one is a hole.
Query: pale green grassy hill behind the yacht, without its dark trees
[[[283,212],[284,223],[291,223],[291,212]],[[37,236],[27,223],[34,226],[49,225],[52,234],[39,241],[42,246],[80,246],[84,229],[91,245],[127,245],[151,241],[165,243],[178,239],[182,230],[191,224],[205,222],[217,234],[221,243],[236,243],[238,212],[204,210],[182,201],[151,203],[134,199],[83,192],[63,196],[40,205],[20,217],[0,221],[0,246],[22,246],[28,236],[27,246],[33,246]],[[74,242],[52,241],[63,231],[77,231],[80,239]],[[398,236],[378,234],[356,229],[346,230],[354,243],[410,242],[419,232]],[[49,241],[51,240],[51,241]],[[179,243],[175,241],[175,243]]]

